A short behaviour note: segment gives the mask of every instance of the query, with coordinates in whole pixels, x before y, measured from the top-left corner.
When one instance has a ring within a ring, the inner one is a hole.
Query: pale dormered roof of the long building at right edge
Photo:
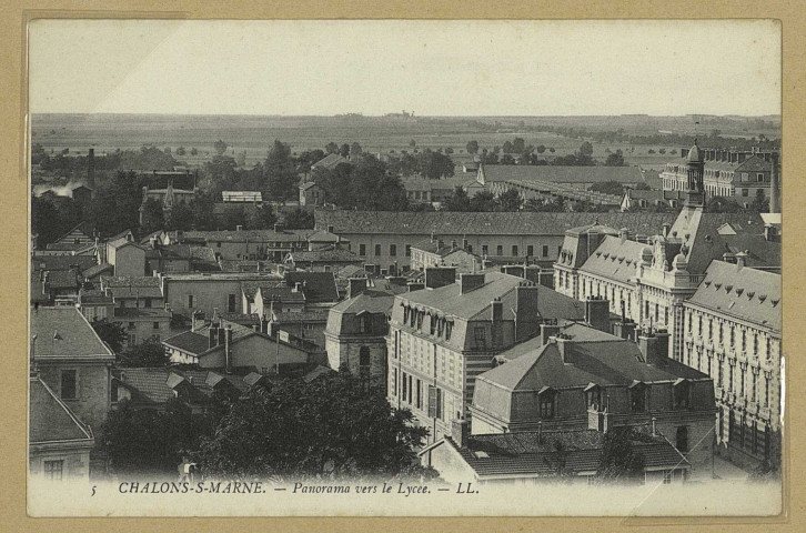
[[[780,274],[712,261],[687,301],[780,332]]]

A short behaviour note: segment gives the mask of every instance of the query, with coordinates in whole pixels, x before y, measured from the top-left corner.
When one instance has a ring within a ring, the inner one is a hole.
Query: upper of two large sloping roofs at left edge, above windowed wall
[[[72,306],[39,308],[31,313],[34,359],[68,358],[110,360],[112,351],[101,341],[81,312]]]

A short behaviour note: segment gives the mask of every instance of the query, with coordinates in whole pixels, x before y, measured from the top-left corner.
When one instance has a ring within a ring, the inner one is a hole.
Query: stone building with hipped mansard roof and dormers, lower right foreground
[[[666,436],[697,475],[711,473],[713,381],[668,358],[668,333],[637,340],[585,324],[544,325],[476,378],[472,433],[643,425]]]

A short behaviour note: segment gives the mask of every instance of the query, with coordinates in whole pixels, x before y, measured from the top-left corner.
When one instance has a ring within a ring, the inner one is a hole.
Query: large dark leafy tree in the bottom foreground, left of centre
[[[412,421],[346,371],[280,380],[234,401],[192,459],[213,479],[433,475],[416,465],[427,429]]]

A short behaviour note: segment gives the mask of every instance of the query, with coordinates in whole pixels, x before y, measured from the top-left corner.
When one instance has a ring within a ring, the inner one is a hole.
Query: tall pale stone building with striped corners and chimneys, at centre
[[[429,442],[466,419],[475,378],[493,358],[557,319],[583,320],[580,302],[508,274],[426,269],[425,289],[395,296],[387,338],[390,402],[411,409]]]

